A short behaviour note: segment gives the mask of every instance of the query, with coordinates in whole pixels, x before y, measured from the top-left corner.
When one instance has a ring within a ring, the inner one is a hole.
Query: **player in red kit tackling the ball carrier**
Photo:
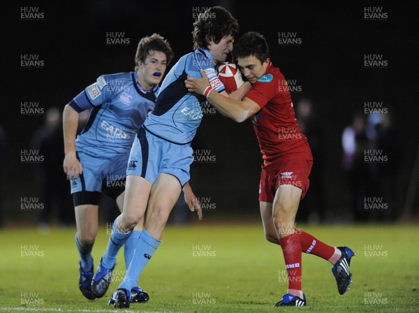
[[[332,247],[295,228],[300,200],[309,188],[313,158],[307,138],[295,119],[284,75],[270,61],[265,38],[244,34],[234,45],[237,64],[252,87],[242,101],[222,96],[203,78],[187,78],[189,92],[204,94],[222,115],[243,122],[251,118],[263,156],[260,175],[260,215],[265,237],[281,245],[288,274],[288,291],[275,306],[303,306],[302,252],[332,263],[337,288],[344,294],[351,284],[349,265],[355,255],[348,247]],[[220,77],[222,81],[222,78]]]

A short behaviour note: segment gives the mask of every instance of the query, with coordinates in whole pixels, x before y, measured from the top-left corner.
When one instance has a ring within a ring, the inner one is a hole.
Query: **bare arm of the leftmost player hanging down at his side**
[[[83,171],[82,164],[75,155],[75,136],[78,128],[78,112],[67,104],[63,112],[64,132],[64,173],[67,179],[77,178]]]

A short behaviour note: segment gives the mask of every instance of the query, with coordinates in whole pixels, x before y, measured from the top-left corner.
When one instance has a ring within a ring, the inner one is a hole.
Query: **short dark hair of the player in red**
[[[269,47],[265,37],[257,31],[248,31],[243,34],[234,44],[236,58],[253,55],[260,63],[269,57]]]

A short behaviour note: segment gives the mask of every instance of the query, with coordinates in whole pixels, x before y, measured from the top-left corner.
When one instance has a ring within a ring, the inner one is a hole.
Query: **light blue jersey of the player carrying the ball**
[[[146,131],[179,145],[191,143],[203,118],[201,103],[206,99],[188,92],[184,80],[186,75],[201,78],[200,68],[207,74],[213,89],[217,92],[224,90],[212,64],[210,52],[199,48],[185,54],[163,80],[156,106],[143,124]]]

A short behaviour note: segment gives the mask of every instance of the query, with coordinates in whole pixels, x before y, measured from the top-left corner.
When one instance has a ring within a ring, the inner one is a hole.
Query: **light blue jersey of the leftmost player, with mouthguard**
[[[69,103],[77,112],[91,108],[75,140],[75,150],[92,155],[129,153],[135,134],[154,108],[159,86],[145,91],[136,72],[101,75]]]

